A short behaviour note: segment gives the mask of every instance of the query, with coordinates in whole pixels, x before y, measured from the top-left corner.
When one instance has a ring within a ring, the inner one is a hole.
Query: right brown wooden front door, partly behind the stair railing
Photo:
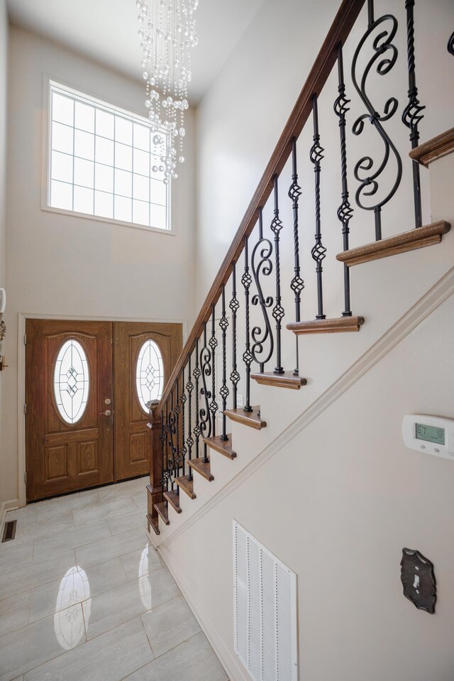
[[[182,350],[180,324],[114,322],[115,470],[118,480],[150,472],[146,403],[160,398]]]

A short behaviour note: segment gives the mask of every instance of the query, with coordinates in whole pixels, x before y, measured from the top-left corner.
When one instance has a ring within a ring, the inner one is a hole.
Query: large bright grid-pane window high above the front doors
[[[48,206],[169,230],[165,143],[147,119],[50,82]]]

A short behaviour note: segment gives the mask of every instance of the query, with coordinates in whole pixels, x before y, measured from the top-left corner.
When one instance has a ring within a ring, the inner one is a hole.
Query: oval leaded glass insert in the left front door
[[[66,423],[76,423],[84,415],[89,386],[88,360],[84,348],[77,340],[65,341],[55,363],[54,394],[57,409]]]

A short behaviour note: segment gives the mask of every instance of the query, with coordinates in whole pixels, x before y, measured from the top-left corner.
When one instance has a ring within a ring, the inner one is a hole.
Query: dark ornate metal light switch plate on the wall
[[[416,549],[402,549],[401,581],[404,596],[419,610],[433,614],[437,599],[433,563]]]

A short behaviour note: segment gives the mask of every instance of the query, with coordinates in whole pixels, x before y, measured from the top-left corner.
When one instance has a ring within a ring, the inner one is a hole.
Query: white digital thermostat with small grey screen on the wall
[[[454,460],[454,420],[412,414],[404,416],[402,436],[406,447]]]

